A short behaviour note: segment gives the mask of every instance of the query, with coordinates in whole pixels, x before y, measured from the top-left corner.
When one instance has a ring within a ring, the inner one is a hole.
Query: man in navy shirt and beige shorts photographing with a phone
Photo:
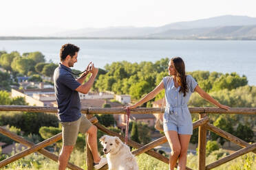
[[[78,132],[87,133],[87,143],[94,158],[94,168],[100,169],[107,163],[106,158],[100,158],[97,147],[97,127],[81,114],[81,101],[78,95],[88,93],[92,87],[98,69],[92,62],[87,66],[87,71],[74,79],[70,67],[77,62],[79,47],[66,44],[61,47],[61,63],[54,71],[54,90],[58,103],[58,119],[61,121],[63,132],[63,147],[58,158],[58,169],[64,170],[70,154],[76,143]],[[86,74],[92,73],[88,82],[84,83]]]

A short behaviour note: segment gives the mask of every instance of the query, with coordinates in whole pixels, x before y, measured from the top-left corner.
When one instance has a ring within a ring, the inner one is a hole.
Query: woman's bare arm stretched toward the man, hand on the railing
[[[137,108],[138,106],[144,104],[145,102],[153,99],[153,97],[156,97],[156,95],[158,95],[158,93],[160,93],[162,89],[164,89],[164,82],[160,82],[160,84],[158,84],[158,86],[156,86],[156,88],[154,88],[149,94],[145,95],[145,97],[140,99],[140,101],[138,101],[136,104],[132,106],[127,106],[127,108],[130,108],[130,109]]]

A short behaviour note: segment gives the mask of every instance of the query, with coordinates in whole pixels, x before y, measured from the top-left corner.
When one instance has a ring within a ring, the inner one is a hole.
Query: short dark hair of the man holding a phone
[[[71,57],[73,57],[76,52],[78,52],[80,50],[79,47],[76,47],[76,45],[72,45],[72,44],[65,44],[63,46],[61,46],[61,51],[60,51],[60,58],[61,61],[64,61],[65,58],[70,55]]]

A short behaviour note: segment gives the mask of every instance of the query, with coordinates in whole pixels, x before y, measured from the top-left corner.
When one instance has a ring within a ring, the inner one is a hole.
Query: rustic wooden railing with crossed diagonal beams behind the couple
[[[53,107],[39,107],[39,106],[0,106],[0,111],[57,112],[57,109]],[[224,130],[221,130],[220,128],[213,126],[211,123],[209,123],[209,117],[207,117],[207,114],[220,114],[220,113],[256,114],[256,108],[231,108],[228,111],[222,110],[220,108],[189,108],[189,111],[192,114],[194,113],[200,114],[200,119],[193,123],[193,129],[199,127],[199,136],[198,136],[198,169],[199,170],[213,169],[217,166],[224,164],[225,162],[228,162],[239,156],[247,154],[250,151],[253,151],[254,153],[256,153],[256,143],[253,143],[253,144],[246,143],[242,139],[237,138],[236,136],[233,136],[232,134],[229,134],[228,132],[225,132]],[[96,125],[96,127],[98,127],[99,130],[105,132],[106,134],[109,134],[110,136],[118,136],[122,141],[125,140],[124,136],[121,136],[116,132],[112,132],[111,130],[108,130],[106,127],[98,123],[98,120],[96,119],[96,117],[93,117],[93,114],[126,114],[125,109],[123,108],[82,108],[81,112],[83,114],[87,114],[87,118],[92,123],[94,123],[94,125]],[[164,110],[161,110],[160,108],[136,108],[130,111],[131,114],[146,114],[146,113],[153,114],[153,113],[161,113],[161,112],[164,112]],[[244,148],[238,151],[235,151],[233,154],[228,155],[224,158],[221,158],[220,160],[212,162],[209,165],[206,165],[206,131],[207,130],[211,130],[212,132],[215,132],[216,134],[222,136],[223,138],[226,138],[228,141],[231,141]],[[9,158],[2,160],[0,162],[0,168],[10,164],[11,162],[14,162],[15,160],[18,160],[20,158],[23,158],[24,156],[27,156],[28,154],[32,154],[36,151],[43,154],[47,158],[50,158],[58,162],[58,156],[56,156],[55,154],[52,154],[50,151],[47,151],[46,149],[43,149],[43,148],[48,145],[52,145],[52,143],[55,143],[56,141],[61,140],[61,133],[56,134],[55,136],[52,136],[51,138],[48,138],[47,140],[37,144],[31,143],[30,141],[25,140],[21,136],[18,136],[17,134],[9,132],[3,127],[0,127],[0,133],[12,138],[14,141],[17,141],[29,147],[28,149],[25,149],[19,152],[18,154],[15,154],[14,156],[10,156]],[[128,140],[127,145],[136,148],[136,150],[132,152],[135,156],[138,156],[139,154],[142,154],[142,153],[146,153],[149,156],[152,156],[153,158],[156,158],[162,162],[169,164],[168,158],[166,158],[165,156],[162,156],[156,151],[153,151],[154,147],[166,142],[167,142],[167,138],[165,136],[162,136],[161,138],[158,138],[156,141],[148,143],[147,145],[141,145],[140,143],[136,143],[135,141],[131,141],[131,140]],[[87,169],[92,170],[93,159],[92,159],[92,153],[90,152],[88,145],[86,147],[86,151],[87,151],[86,153]],[[81,170],[80,167],[77,167],[76,165],[73,165],[70,162],[68,163],[67,167],[70,169]],[[101,169],[107,169],[107,165],[105,165]],[[190,169],[190,168],[186,167],[186,169]]]

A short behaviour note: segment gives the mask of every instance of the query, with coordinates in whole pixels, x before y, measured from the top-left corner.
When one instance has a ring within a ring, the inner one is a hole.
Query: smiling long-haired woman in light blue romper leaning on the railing
[[[127,108],[136,108],[153,99],[162,89],[165,89],[166,108],[164,117],[161,119],[163,119],[164,134],[171,147],[169,169],[174,169],[177,160],[179,160],[178,169],[185,169],[186,152],[193,132],[191,114],[186,105],[191,94],[196,91],[201,97],[219,108],[228,110],[229,107],[220,104],[204,92],[191,75],[185,75],[185,65],[182,58],[171,58],[168,71],[171,77],[164,77],[155,89],[140,99],[138,103],[127,106]]]

